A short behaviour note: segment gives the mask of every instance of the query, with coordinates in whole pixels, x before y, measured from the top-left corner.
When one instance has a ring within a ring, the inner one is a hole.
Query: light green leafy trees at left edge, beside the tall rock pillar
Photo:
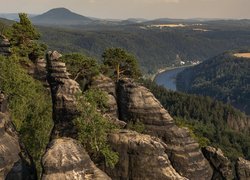
[[[50,95],[14,57],[0,57],[0,86],[8,97],[9,109],[21,141],[33,157],[39,173],[41,156],[52,128]]]

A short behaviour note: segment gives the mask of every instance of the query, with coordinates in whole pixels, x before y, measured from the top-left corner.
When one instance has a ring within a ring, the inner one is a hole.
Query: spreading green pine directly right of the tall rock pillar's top
[[[84,54],[66,54],[63,55],[61,60],[66,63],[67,70],[72,78],[80,84],[82,89],[86,88],[86,85],[93,76],[99,74],[99,65],[97,61]]]

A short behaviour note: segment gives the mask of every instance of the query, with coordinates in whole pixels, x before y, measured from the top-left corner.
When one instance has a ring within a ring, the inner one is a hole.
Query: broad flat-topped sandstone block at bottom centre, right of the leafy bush
[[[112,179],[186,179],[172,167],[166,145],[156,137],[121,130],[111,134],[109,142],[120,157],[114,169],[106,169]]]

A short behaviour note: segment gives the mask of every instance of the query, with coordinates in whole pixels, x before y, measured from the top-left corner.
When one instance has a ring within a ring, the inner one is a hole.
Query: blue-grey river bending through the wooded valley
[[[187,67],[175,68],[167,70],[156,75],[154,81],[158,85],[164,86],[166,89],[176,91],[176,76]]]

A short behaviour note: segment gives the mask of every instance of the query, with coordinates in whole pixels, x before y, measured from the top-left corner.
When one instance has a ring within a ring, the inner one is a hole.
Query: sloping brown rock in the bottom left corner
[[[35,179],[34,166],[29,164],[30,159],[20,147],[6,105],[5,96],[0,92],[0,179]]]

